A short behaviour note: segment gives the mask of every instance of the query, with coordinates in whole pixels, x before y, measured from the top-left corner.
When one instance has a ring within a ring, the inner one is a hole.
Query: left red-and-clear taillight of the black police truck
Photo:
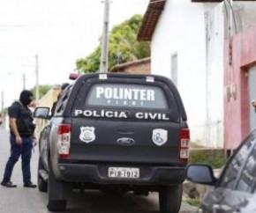
[[[71,154],[71,124],[60,124],[57,129],[57,151],[60,158],[68,158]]]

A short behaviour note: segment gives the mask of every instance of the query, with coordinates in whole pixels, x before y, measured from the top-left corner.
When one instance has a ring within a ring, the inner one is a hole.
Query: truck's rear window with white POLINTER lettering
[[[164,92],[154,85],[94,84],[88,92],[87,106],[167,109]]]

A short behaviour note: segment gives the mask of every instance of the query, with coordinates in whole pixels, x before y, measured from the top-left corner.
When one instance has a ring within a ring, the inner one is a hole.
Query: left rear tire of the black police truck
[[[48,204],[49,211],[64,211],[67,201],[64,199],[64,184],[56,180],[52,171],[52,165],[49,162],[49,179],[48,179]]]

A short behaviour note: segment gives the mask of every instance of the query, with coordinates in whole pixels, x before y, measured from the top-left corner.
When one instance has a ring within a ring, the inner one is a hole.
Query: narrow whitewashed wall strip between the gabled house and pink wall
[[[204,138],[210,146],[223,146],[224,8],[206,13],[206,123]]]

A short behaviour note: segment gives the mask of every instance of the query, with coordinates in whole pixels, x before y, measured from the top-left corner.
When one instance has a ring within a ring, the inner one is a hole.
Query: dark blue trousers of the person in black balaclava
[[[11,173],[13,170],[13,166],[19,160],[19,156],[21,155],[21,168],[23,174],[23,182],[28,183],[31,180],[30,174],[30,159],[31,152],[33,148],[33,139],[32,136],[22,136],[22,144],[17,145],[15,136],[11,134],[10,142],[11,142],[11,156],[8,159],[5,170],[4,170],[4,178],[11,179]]]

